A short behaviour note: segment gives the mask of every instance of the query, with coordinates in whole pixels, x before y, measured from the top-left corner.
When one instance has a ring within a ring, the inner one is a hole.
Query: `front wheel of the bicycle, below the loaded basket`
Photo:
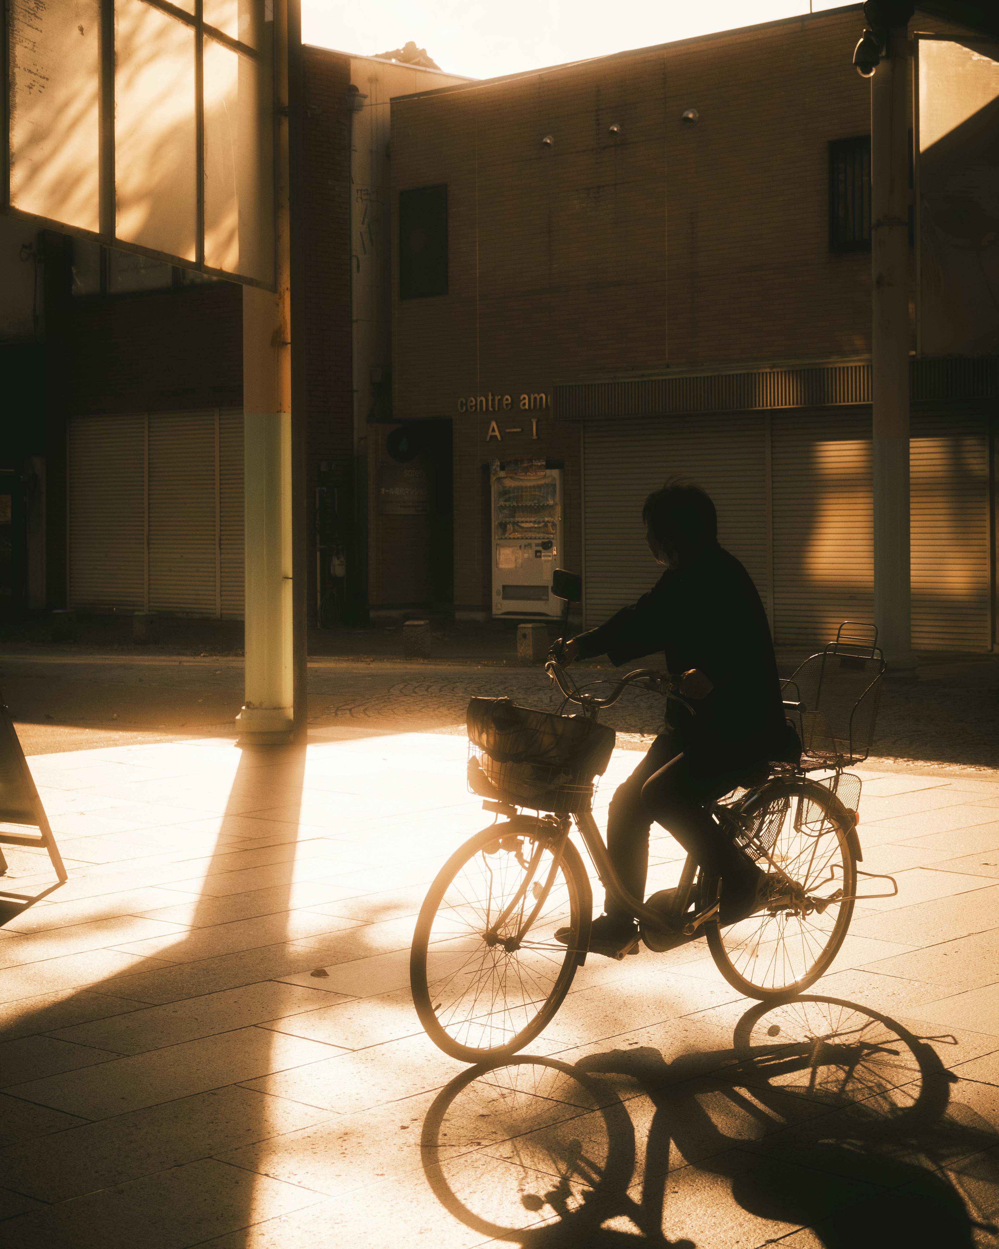
[[[410,985],[427,1035],[452,1058],[516,1054],[568,993],[588,893],[571,842],[541,911],[516,940],[548,882],[557,841],[527,817],[492,824],[451,856],[430,888],[413,933]],[[558,928],[569,931],[567,942],[556,940]]]

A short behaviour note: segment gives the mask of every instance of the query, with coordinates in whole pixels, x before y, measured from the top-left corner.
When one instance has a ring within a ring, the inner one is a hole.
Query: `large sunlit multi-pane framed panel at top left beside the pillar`
[[[272,0],[6,0],[6,211],[276,289]]]

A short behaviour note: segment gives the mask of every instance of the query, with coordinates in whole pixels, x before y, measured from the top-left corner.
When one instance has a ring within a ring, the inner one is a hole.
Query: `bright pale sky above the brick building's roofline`
[[[808,11],[808,0],[302,0],[302,37],[360,56],[412,39],[442,70],[495,77]]]

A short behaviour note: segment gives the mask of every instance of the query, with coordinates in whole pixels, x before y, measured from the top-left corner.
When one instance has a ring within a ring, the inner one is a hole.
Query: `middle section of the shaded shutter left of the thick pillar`
[[[217,613],[215,412],[149,417],[149,606]]]

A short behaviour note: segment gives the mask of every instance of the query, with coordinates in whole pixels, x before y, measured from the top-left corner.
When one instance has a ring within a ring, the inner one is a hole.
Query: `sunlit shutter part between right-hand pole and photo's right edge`
[[[989,440],[984,412],[912,421],[913,646],[988,651]]]

